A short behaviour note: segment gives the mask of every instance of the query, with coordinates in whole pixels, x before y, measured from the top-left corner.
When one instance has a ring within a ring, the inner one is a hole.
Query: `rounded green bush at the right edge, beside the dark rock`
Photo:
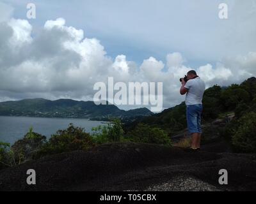
[[[246,113],[239,119],[239,126],[232,137],[236,152],[256,152],[256,113]]]

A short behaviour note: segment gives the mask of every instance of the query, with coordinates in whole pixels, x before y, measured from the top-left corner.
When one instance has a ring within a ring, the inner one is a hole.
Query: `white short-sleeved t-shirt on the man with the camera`
[[[200,77],[188,80],[184,87],[189,89],[186,94],[186,105],[202,104],[205,91],[205,83]]]

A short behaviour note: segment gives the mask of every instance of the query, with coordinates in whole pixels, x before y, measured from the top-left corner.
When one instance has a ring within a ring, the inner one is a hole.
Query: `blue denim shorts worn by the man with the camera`
[[[203,111],[202,104],[186,106],[186,117],[187,117],[189,133],[202,133],[202,129],[201,129],[202,111]]]

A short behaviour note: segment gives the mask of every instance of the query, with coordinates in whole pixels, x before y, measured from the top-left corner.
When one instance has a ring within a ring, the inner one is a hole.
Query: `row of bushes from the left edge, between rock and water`
[[[48,141],[45,136],[34,133],[31,127],[24,138],[15,142],[12,147],[8,143],[0,142],[0,170],[50,154],[87,150],[92,146],[92,136],[73,124],[67,129],[58,130]]]

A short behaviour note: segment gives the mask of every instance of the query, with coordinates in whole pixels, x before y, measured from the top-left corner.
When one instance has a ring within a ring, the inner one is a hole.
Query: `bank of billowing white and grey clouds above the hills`
[[[186,66],[180,52],[166,54],[166,61],[151,56],[136,64],[124,54],[112,59],[100,40],[86,38],[83,30],[67,26],[63,18],[47,20],[35,36],[28,20],[6,17],[0,22],[1,101],[38,97],[92,100],[93,85],[107,84],[108,77],[114,77],[115,82],[163,82],[167,108],[184,100],[179,78],[191,69],[207,87],[239,83],[256,75],[256,52],[198,68]]]

